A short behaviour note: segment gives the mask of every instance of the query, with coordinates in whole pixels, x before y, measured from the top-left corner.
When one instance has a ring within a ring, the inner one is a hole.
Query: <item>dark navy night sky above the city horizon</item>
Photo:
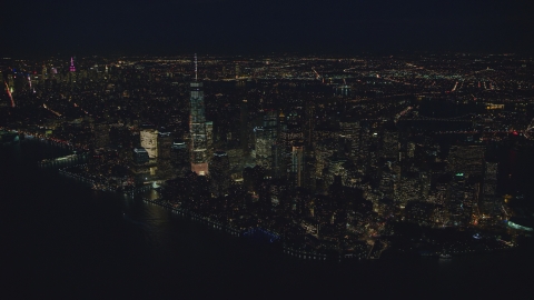
[[[534,1],[11,0],[0,54],[534,50]]]

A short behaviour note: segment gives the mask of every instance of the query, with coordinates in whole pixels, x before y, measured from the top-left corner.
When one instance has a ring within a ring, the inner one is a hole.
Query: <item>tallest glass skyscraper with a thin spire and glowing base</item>
[[[198,82],[197,54],[195,54],[195,81],[190,83],[191,112],[189,116],[189,133],[191,134],[190,153],[191,171],[199,176],[208,174],[208,129],[204,114],[202,82]],[[209,134],[210,136],[210,134]]]

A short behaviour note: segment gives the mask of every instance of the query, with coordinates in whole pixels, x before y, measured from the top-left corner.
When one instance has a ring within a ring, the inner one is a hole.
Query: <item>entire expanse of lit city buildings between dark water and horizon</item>
[[[77,154],[62,172],[97,190],[154,189],[151,202],[291,254],[448,257],[510,249],[534,229],[532,57],[0,67],[3,141],[16,131],[65,144]]]

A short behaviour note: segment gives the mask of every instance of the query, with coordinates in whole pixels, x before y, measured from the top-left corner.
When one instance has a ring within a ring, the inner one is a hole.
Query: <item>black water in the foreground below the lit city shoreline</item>
[[[362,296],[451,298],[534,292],[530,248],[343,264],[299,261],[137,199],[39,170],[62,150],[0,150],[2,293],[9,299]]]

